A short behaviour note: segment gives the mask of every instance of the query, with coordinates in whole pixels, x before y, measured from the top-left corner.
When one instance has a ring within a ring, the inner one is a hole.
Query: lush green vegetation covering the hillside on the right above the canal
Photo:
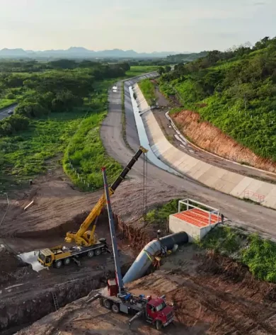
[[[163,74],[161,90],[237,142],[276,161],[276,38],[206,57]]]

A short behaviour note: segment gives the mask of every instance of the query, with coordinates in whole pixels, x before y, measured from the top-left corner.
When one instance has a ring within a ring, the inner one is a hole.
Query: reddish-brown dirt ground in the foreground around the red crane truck
[[[276,285],[254,280],[246,268],[188,245],[163,259],[160,270],[128,285],[134,294],[163,295],[173,302],[176,319],[164,334],[276,334]],[[18,335],[159,334],[142,319],[113,314],[90,293],[47,315]]]

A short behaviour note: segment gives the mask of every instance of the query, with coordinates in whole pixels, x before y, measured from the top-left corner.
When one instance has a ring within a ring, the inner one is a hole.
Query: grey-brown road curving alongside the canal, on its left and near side
[[[125,88],[134,84],[134,81],[137,81],[137,79],[126,81]],[[122,81],[118,82],[116,86],[117,92],[110,91],[109,93],[109,112],[101,127],[100,135],[108,154],[121,164],[127,164],[130,157],[132,157],[133,152],[128,149],[122,138]],[[129,94],[129,90],[126,89],[125,115],[127,118],[127,142],[130,144],[130,147],[136,150],[139,147],[139,137]],[[143,163],[142,161],[137,161],[130,176],[142,179],[142,173]],[[183,198],[187,198],[188,194],[190,198],[195,198],[214,208],[219,208],[219,210],[221,210],[221,212],[228,217],[234,225],[246,227],[251,231],[258,231],[263,234],[263,236],[276,240],[275,210],[263,208],[262,206],[253,203],[238,200],[231,195],[214,191],[211,188],[207,188],[206,186],[193,181],[191,178],[173,176],[151,164],[149,164],[148,167],[148,178],[149,186],[156,188],[156,190],[158,189],[160,191],[161,188],[171,188],[174,193],[183,193]]]

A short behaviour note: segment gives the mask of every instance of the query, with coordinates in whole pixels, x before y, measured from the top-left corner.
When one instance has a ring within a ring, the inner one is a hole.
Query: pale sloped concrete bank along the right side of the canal
[[[149,105],[137,84],[134,85],[134,92],[137,95],[139,109],[142,112],[149,110]],[[241,176],[217,166],[212,166],[173,147],[163,135],[151,110],[142,115],[142,120],[152,151],[156,157],[171,166],[171,168],[218,191],[234,195],[237,198],[260,200],[261,205],[276,209],[275,184]]]

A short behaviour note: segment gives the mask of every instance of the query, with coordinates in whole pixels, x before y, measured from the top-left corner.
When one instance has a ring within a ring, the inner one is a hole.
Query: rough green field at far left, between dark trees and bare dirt
[[[31,120],[28,131],[0,139],[0,191],[47,171],[49,159],[66,149],[85,113],[55,113]]]

